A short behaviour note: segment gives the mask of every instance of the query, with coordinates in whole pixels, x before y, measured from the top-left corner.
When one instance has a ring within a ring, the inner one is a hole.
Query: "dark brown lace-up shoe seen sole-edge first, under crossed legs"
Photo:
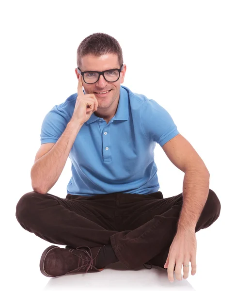
[[[40,260],[41,273],[47,277],[68,274],[100,272],[95,268],[96,257],[101,247],[78,246],[76,249],[66,246],[60,248],[51,245],[45,249]]]

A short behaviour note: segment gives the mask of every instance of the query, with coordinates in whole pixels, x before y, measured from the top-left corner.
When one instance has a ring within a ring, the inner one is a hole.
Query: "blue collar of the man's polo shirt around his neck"
[[[128,91],[125,89],[125,86],[120,86],[120,99],[117,111],[113,117],[114,120],[128,120],[129,118],[129,102],[128,102]],[[86,121],[87,124],[90,124],[100,117],[96,116],[94,113],[90,116],[89,120]]]

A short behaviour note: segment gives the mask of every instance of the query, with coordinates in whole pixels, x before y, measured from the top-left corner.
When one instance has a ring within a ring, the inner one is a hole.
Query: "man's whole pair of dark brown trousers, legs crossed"
[[[177,231],[183,194],[110,193],[94,196],[29,192],[16,205],[16,218],[26,230],[47,242],[76,248],[111,244],[127,268],[164,266]],[[195,231],[212,225],[220,213],[217,195],[209,195]]]

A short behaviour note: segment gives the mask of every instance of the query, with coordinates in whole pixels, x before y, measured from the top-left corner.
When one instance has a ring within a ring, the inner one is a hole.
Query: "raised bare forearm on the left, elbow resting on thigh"
[[[56,144],[31,168],[31,184],[35,192],[46,194],[59,179],[70,150],[82,125],[69,122]]]

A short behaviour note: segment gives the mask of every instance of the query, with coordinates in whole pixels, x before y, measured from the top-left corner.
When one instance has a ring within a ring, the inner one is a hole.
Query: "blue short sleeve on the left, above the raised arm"
[[[41,127],[41,144],[56,143],[68,123],[67,114],[55,105],[45,116]]]

